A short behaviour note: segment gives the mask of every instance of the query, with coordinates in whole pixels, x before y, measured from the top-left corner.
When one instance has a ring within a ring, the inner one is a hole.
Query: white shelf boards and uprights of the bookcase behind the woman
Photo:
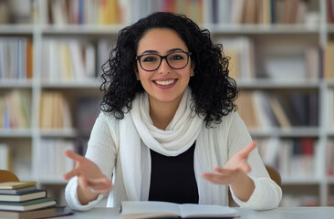
[[[134,0],[133,0],[134,1]],[[327,24],[327,6],[326,0],[312,0],[318,2],[318,10],[320,15],[319,25],[216,25],[205,22],[207,17],[207,1],[204,1],[204,24],[201,25],[208,28],[212,34],[214,42],[221,37],[245,36],[256,39],[261,44],[261,40],[265,43],[274,39],[287,39],[290,42],[299,40],[304,43],[310,41],[311,44],[316,44],[318,47],[326,47],[330,36],[334,36],[334,25]],[[37,5],[43,8],[46,1],[36,0]],[[316,4],[317,5],[317,4]],[[45,13],[45,12],[43,12]],[[52,26],[47,25],[38,20],[38,17],[32,25],[0,25],[0,36],[27,36],[31,37],[34,45],[34,63],[32,80],[0,80],[0,94],[5,90],[10,89],[25,89],[32,93],[32,115],[31,129],[29,130],[0,130],[0,143],[15,144],[16,141],[26,144],[26,147],[31,147],[31,154],[28,156],[31,159],[31,172],[26,175],[19,176],[22,180],[37,181],[39,186],[60,185],[64,186],[64,182],[60,176],[47,178],[39,174],[39,152],[43,147],[41,141],[43,139],[69,139],[75,140],[80,136],[78,130],[41,130],[39,128],[40,114],[40,97],[43,90],[57,90],[62,93],[68,92],[80,93],[85,91],[91,95],[100,97],[99,80],[85,81],[42,81],[42,42],[45,38],[67,38],[77,37],[78,39],[99,40],[101,38],[116,38],[120,29],[125,25],[110,25],[110,26]],[[304,39],[305,38],[305,39]],[[223,45],[224,46],[224,45]],[[97,67],[99,68],[99,67]],[[334,70],[334,69],[333,69]],[[100,70],[99,70],[100,71]],[[334,89],[334,79],[332,81],[324,81],[322,79],[302,79],[292,81],[287,79],[272,80],[255,78],[251,80],[237,80],[237,85],[243,90],[314,90],[318,92],[318,126],[317,127],[293,127],[291,129],[273,128],[268,130],[249,129],[254,138],[302,138],[310,137],[318,139],[318,151],[320,152],[318,165],[323,172],[319,172],[319,176],[312,179],[294,179],[283,178],[283,188],[285,186],[305,185],[317,187],[318,204],[327,205],[330,189],[334,186],[334,178],[327,177],[325,172],[326,160],[326,144],[329,138],[334,138],[333,127],[328,126],[327,115],[329,114],[329,106],[327,104],[327,93],[329,89]],[[77,96],[74,97],[76,99]],[[332,109],[330,109],[332,110]],[[334,145],[333,145],[334,147]],[[331,192],[331,195],[334,195]]]

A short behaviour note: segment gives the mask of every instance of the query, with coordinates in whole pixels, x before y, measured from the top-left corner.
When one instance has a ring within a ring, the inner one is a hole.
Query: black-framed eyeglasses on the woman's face
[[[166,59],[169,67],[173,69],[182,69],[188,65],[191,52],[172,52],[166,56],[160,56],[158,54],[144,54],[136,57],[136,60],[140,62],[141,68],[145,71],[154,71],[162,65],[162,59]]]

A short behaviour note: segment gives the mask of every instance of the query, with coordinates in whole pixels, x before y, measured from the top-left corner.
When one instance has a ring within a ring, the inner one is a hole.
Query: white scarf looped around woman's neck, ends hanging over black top
[[[219,186],[201,177],[204,172],[212,172],[218,164],[212,138],[208,129],[205,129],[204,120],[190,109],[192,102],[191,90],[185,89],[179,108],[166,130],[153,126],[147,93],[137,96],[132,101],[130,113],[125,114],[124,119],[120,120],[120,161],[130,201],[147,201],[149,198],[149,149],[165,156],[177,156],[187,151],[196,141],[193,167],[199,203],[224,203]]]

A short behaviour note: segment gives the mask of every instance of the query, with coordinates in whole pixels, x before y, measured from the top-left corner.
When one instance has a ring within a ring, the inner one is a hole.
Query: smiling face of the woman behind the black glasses
[[[154,28],[149,30],[141,37],[137,48],[137,56],[156,54],[166,56],[172,61],[184,58],[177,55],[177,52],[189,52],[188,47],[183,42],[182,38],[172,29]],[[146,57],[146,56],[145,56]],[[152,62],[154,58],[141,58],[143,61]],[[173,69],[168,64],[166,59],[162,59],[161,66],[153,71],[147,71],[141,68],[140,62],[137,61],[138,72],[137,78],[141,80],[141,85],[149,94],[150,105],[155,103],[169,102],[179,104],[184,89],[188,86],[191,73],[193,73],[193,65],[191,58],[186,67],[182,69]]]

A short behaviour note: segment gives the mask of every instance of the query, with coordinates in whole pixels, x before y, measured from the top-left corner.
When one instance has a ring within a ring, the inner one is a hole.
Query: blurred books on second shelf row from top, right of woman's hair
[[[217,38],[216,42],[223,45],[224,56],[230,58],[230,75],[235,79],[300,81],[334,78],[332,41],[324,49],[297,44],[256,47],[256,40],[245,36]]]

